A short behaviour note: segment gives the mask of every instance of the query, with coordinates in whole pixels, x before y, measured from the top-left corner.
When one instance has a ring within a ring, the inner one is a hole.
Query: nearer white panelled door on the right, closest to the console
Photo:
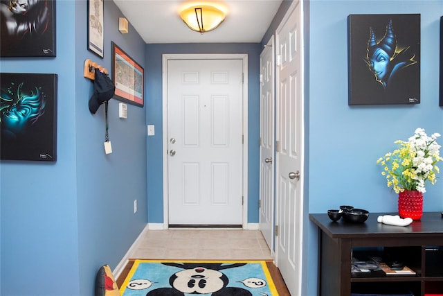
[[[301,295],[302,1],[277,28],[277,265],[291,295]],[[280,56],[280,57],[279,57]]]

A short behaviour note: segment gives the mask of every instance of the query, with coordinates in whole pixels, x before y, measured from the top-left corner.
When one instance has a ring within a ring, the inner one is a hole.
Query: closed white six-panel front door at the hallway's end
[[[242,225],[242,60],[168,60],[169,225]]]

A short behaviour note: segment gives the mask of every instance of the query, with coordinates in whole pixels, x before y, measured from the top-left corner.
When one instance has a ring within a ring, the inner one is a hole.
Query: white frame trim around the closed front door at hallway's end
[[[248,55],[245,54],[200,54],[174,53],[162,55],[163,90],[163,229],[169,227],[168,192],[168,60],[242,60],[243,63],[243,229],[248,228]]]

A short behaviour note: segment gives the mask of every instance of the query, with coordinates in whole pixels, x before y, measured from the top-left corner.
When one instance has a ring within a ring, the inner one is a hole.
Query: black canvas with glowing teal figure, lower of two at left
[[[57,160],[57,74],[0,73],[0,159]]]

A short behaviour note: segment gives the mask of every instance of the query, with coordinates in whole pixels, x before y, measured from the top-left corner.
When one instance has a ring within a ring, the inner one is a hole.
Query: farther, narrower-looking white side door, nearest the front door
[[[260,54],[260,230],[273,250],[274,236],[274,37]]]

